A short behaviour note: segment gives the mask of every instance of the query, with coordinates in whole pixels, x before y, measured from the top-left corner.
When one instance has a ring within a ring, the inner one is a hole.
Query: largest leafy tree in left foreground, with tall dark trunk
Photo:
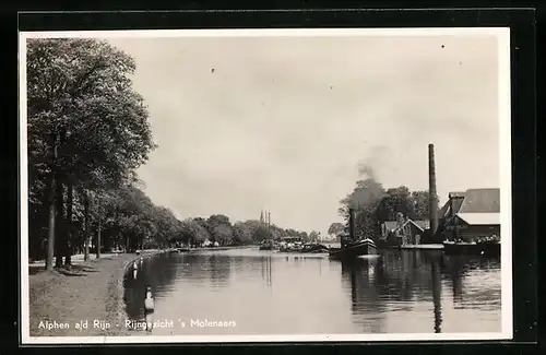
[[[106,42],[27,44],[29,196],[49,210],[47,269],[52,267],[56,235],[64,235],[55,224],[59,191],[75,185],[116,188],[155,147],[147,110],[132,90],[134,68],[132,58]],[[64,253],[69,239],[59,240]]]

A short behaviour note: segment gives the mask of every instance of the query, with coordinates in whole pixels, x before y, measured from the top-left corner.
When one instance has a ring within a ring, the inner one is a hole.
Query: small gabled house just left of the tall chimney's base
[[[381,225],[381,236],[389,245],[416,245],[422,242],[429,221],[413,221],[407,216],[401,221],[388,221]]]

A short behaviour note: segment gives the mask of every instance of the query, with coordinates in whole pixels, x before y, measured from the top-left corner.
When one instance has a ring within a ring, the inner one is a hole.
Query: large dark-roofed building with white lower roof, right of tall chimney
[[[500,236],[500,189],[450,192],[439,220],[439,232],[444,239],[473,241],[479,237]]]

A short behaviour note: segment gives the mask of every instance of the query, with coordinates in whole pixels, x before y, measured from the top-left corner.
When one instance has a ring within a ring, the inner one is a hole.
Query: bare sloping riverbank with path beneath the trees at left
[[[146,250],[141,256],[158,252]],[[123,276],[141,256],[103,255],[88,261],[74,256],[71,270],[45,271],[40,263],[31,264],[29,335],[123,335]],[[81,322],[86,322],[87,329],[78,329],[75,324]],[[110,328],[100,327],[106,324]]]

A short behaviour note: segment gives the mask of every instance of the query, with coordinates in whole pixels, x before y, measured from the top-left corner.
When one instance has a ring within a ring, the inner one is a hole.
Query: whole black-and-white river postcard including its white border
[[[19,58],[23,344],[512,338],[509,28]]]

